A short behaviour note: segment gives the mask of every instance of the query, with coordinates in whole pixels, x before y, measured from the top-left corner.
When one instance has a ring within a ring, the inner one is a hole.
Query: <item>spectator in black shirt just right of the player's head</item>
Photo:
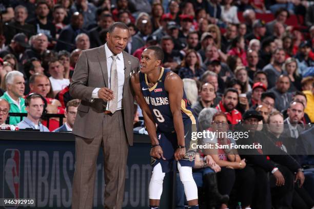
[[[181,64],[184,56],[174,49],[173,39],[169,35],[163,36],[160,45],[165,54],[164,67],[177,71],[176,68]]]

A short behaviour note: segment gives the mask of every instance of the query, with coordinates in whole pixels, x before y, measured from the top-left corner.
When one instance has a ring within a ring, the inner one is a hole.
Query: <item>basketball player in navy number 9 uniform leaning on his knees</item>
[[[163,59],[160,47],[146,48],[141,56],[141,72],[131,77],[152,144],[149,208],[159,208],[163,179],[172,168],[173,158],[178,161],[188,208],[199,208],[198,188],[192,177],[195,159],[192,147],[196,147],[197,141],[191,140],[191,135],[197,131],[196,121],[183,90],[183,81],[171,70],[161,67]]]

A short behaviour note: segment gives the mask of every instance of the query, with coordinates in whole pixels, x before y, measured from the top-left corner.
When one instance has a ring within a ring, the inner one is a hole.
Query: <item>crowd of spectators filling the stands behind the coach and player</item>
[[[0,16],[0,124],[71,131],[80,101],[72,99],[69,85],[78,56],[104,45],[109,26],[120,21],[129,27],[128,53],[141,58],[148,46],[163,49],[163,67],[184,80],[202,130],[239,122],[286,124],[287,130],[261,126],[252,134],[272,134],[266,138],[283,151],[290,149],[282,147],[284,139],[297,139],[304,152],[314,152],[314,128],[296,126],[314,123],[314,2],[3,0]],[[59,118],[41,119],[43,113],[64,114],[64,125]],[[143,126],[140,109],[134,116],[134,127]],[[208,205],[227,208],[232,188],[247,181],[237,195],[244,207],[314,206],[314,174],[307,170],[303,184],[300,173],[314,166],[312,157],[219,152],[202,153],[195,162],[203,186],[212,189],[205,191],[219,200],[207,197]]]

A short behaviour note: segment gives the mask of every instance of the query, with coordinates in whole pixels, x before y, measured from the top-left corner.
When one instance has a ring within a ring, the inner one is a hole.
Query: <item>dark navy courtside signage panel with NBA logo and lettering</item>
[[[74,141],[0,142],[0,198],[32,198],[34,208],[70,208],[75,169]],[[148,143],[137,143],[129,149],[124,208],[147,208],[151,175],[149,148]],[[102,159],[100,151],[96,164],[94,208],[103,208],[104,204]]]

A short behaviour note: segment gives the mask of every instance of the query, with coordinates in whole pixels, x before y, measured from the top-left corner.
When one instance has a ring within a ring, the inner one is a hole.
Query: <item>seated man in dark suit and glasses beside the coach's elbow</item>
[[[72,132],[78,105],[80,105],[79,99],[72,99],[67,103],[67,108],[64,113],[66,122],[63,124],[63,126],[57,128],[53,132]]]

